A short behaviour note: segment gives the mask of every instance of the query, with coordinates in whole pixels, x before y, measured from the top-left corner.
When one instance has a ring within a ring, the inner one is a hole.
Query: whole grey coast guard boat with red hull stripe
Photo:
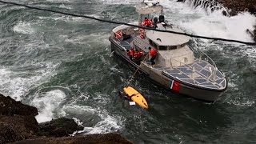
[[[183,32],[178,26],[166,23],[159,2],[145,0],[136,11],[139,26],[143,25],[143,19],[154,17],[151,28]],[[214,102],[227,88],[226,77],[207,54],[190,49],[189,40],[185,35],[126,25],[115,27],[110,36],[111,50],[158,84],[179,94]],[[157,50],[154,65],[150,62],[149,47]],[[130,49],[142,51],[145,60],[134,62],[126,52]]]

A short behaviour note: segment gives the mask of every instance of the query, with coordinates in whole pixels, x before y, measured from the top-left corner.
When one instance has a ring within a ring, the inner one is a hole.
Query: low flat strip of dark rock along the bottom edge
[[[64,137],[64,138],[41,138],[23,140],[20,142],[14,142],[15,144],[58,144],[58,143],[75,143],[75,144],[132,144],[133,142],[123,138],[120,134],[90,134],[77,137]]]

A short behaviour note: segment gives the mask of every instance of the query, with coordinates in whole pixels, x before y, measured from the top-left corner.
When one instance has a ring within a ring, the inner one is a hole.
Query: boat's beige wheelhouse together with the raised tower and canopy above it
[[[148,3],[136,7],[139,14],[138,24],[142,24],[142,18],[149,18],[150,14],[159,13],[159,17],[154,18],[153,27],[157,30],[170,30],[183,33],[177,26],[168,25],[165,22],[163,15],[163,7],[158,5],[158,2],[147,1]],[[151,3],[150,3],[151,2]],[[186,45],[190,37],[185,35],[171,34],[154,30],[144,30],[145,37],[142,38],[139,34],[135,38],[134,44],[137,46],[144,44],[145,52],[148,52],[149,46],[158,50],[158,55],[155,60],[158,66],[175,67],[190,64],[194,62],[193,51]],[[149,44],[146,46],[146,43]],[[143,47],[143,46],[140,46]]]

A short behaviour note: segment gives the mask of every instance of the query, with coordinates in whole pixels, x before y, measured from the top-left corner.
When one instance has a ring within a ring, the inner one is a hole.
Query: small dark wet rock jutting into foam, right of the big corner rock
[[[73,134],[76,130],[83,130],[82,126],[78,126],[73,119],[58,118],[50,122],[43,122],[39,124],[40,130],[38,135],[63,137]]]

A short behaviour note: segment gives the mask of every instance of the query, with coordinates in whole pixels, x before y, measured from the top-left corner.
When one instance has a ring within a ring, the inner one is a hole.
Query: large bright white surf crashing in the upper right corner
[[[242,13],[226,17],[222,15],[222,10],[206,13],[206,10],[200,7],[194,9],[193,6],[175,1],[164,2],[163,6],[167,8],[166,19],[181,26],[190,34],[252,42],[246,34],[246,29],[252,30],[256,23],[256,18],[252,14]]]

